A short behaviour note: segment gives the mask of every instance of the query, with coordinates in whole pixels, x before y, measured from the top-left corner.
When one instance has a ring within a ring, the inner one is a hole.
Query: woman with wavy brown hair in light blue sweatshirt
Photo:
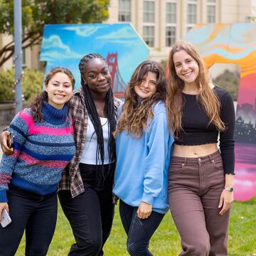
[[[120,198],[129,255],[152,255],[149,240],[169,210],[167,174],[173,138],[165,97],[164,71],[146,60],[134,71],[119,106],[114,194]]]

